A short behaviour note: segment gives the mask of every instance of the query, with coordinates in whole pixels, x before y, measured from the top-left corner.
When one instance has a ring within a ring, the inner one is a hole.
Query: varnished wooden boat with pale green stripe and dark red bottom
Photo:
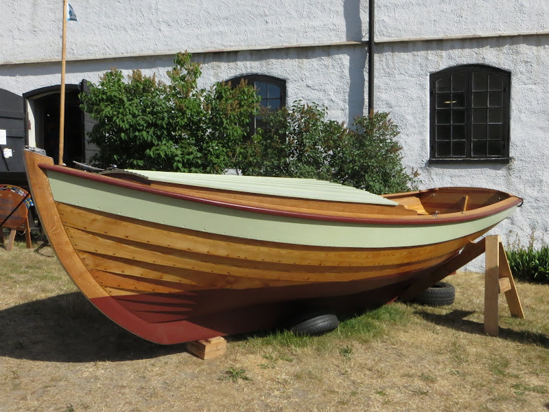
[[[272,328],[301,304],[385,304],[511,215],[472,187],[376,196],[312,179],[94,174],[25,151],[43,228],[82,293],[144,339]]]

